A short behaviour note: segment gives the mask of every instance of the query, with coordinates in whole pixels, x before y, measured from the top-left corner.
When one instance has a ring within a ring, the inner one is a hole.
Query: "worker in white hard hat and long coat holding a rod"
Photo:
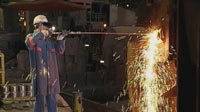
[[[30,56],[34,112],[44,112],[45,104],[48,112],[57,112],[56,94],[60,92],[60,84],[56,56],[64,53],[64,37],[68,33],[62,31],[52,38],[49,31],[51,24],[44,15],[37,15],[33,25],[34,32],[26,36],[25,44]]]

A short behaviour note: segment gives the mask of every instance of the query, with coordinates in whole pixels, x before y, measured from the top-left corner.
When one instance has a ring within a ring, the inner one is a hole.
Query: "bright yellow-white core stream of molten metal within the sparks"
[[[147,107],[144,108],[145,112],[158,112],[158,85],[156,84],[156,73],[154,66],[158,63],[158,45],[161,43],[157,37],[159,30],[150,33],[147,36],[147,49],[144,51],[146,59],[146,66],[144,68],[144,100]]]

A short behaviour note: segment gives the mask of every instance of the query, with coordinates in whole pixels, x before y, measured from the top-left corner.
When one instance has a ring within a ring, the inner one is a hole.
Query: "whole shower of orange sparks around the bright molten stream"
[[[176,78],[165,57],[165,43],[160,30],[149,33],[134,44],[129,43],[128,89],[132,112],[171,112],[163,93],[172,88]],[[139,42],[138,42],[139,41]]]

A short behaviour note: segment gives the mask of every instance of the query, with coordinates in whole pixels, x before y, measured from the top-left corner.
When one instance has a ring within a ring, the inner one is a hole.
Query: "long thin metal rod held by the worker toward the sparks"
[[[61,34],[61,32],[52,32],[53,34]],[[119,33],[119,32],[68,32],[69,35],[145,35],[142,33]]]

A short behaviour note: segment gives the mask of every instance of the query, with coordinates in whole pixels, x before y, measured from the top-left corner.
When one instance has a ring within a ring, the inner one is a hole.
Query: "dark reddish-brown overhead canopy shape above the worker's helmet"
[[[86,10],[83,5],[67,2],[64,0],[35,0],[23,2],[9,2],[3,4],[4,7],[28,10],[28,11],[41,11],[41,12],[72,12]]]

